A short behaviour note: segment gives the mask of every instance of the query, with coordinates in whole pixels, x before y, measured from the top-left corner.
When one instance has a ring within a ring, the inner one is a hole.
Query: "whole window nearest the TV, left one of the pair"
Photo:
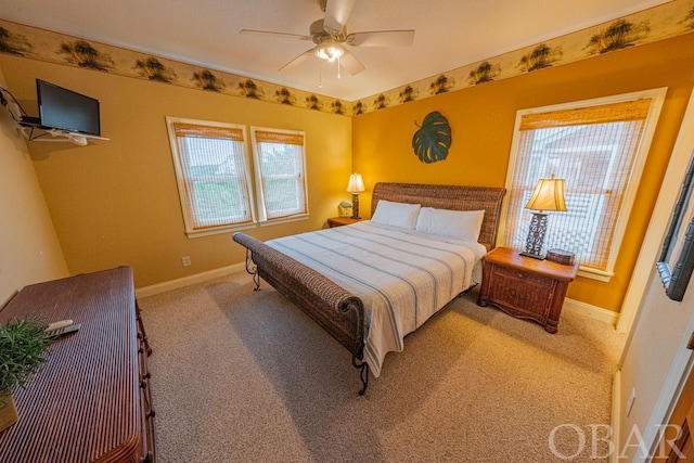
[[[185,233],[253,226],[244,126],[167,117]]]

